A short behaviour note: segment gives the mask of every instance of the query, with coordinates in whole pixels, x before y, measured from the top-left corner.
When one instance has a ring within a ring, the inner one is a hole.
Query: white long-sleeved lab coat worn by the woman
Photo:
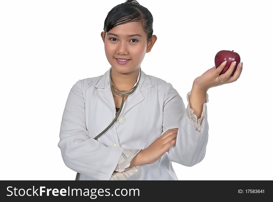
[[[170,128],[179,128],[176,144],[158,161],[138,166],[127,180],[177,180],[171,162],[193,166],[203,160],[208,142],[207,112],[200,132],[196,131],[177,90],[143,71],[118,120],[94,140],[116,114],[110,70],[76,82],[65,104],[58,147],[65,165],[81,173],[79,180],[109,180],[123,149],[145,149]]]

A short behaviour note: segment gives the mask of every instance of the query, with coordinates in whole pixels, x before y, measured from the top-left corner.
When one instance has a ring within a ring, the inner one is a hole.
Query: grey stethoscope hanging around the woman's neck
[[[131,92],[125,93],[125,94],[120,94],[120,93],[117,93],[117,92],[115,91],[115,90],[117,90],[117,89],[115,89],[115,87],[113,86],[111,71],[112,71],[112,69],[110,70],[110,85],[111,85],[111,89],[113,90],[113,92],[114,92],[116,95],[122,96],[121,106],[120,106],[119,111],[118,111],[118,113],[116,114],[116,117],[114,118],[114,120],[110,123],[109,126],[107,126],[107,128],[105,128],[100,134],[98,134],[98,135],[94,138],[95,140],[97,140],[99,137],[101,137],[101,135],[102,135],[103,133],[105,133],[105,132],[114,124],[114,122],[118,119],[118,117],[119,117],[119,115],[120,115],[120,112],[121,112],[121,110],[122,110],[123,104],[124,104],[124,96],[131,95],[131,94],[137,89],[138,83],[139,83],[140,78],[141,78],[141,68],[140,68],[140,76],[139,76],[137,85],[134,86],[134,87],[131,89]],[[130,90],[118,90],[118,91],[120,91],[120,92],[126,92],[126,91],[130,91]],[[77,175],[76,175],[76,179],[75,179],[75,180],[78,180],[78,178],[79,178],[79,173],[77,172]]]

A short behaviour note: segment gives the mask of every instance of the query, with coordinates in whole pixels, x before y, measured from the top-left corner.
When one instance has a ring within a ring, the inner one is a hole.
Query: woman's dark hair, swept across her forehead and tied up
[[[153,16],[147,8],[141,6],[137,1],[127,0],[109,11],[103,30],[109,32],[110,29],[120,24],[141,22],[147,35],[147,41],[149,41],[153,35],[153,21]]]

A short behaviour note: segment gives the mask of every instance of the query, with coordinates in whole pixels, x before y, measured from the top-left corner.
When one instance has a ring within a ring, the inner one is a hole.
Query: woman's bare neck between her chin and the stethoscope
[[[112,77],[113,86],[117,90],[132,89],[135,83],[137,82],[139,72],[140,72],[140,68],[128,74],[121,74],[111,69],[111,77]]]

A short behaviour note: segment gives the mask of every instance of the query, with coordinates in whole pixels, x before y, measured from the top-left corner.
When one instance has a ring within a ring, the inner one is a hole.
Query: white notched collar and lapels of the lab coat
[[[102,77],[99,79],[95,87],[98,88],[99,95],[104,100],[104,102],[111,107],[111,109],[113,110],[113,116],[115,116],[116,107],[115,107],[112,90],[110,87],[110,70],[111,68],[108,71],[106,71],[104,75],[102,75]],[[133,106],[137,105],[142,100],[144,100],[144,95],[142,94],[141,91],[146,90],[150,87],[153,87],[149,76],[146,75],[142,70],[141,70],[141,78],[139,79],[140,81],[139,81],[137,89],[131,95],[129,95],[128,98],[125,100],[119,117],[121,117],[130,108],[132,108]]]

